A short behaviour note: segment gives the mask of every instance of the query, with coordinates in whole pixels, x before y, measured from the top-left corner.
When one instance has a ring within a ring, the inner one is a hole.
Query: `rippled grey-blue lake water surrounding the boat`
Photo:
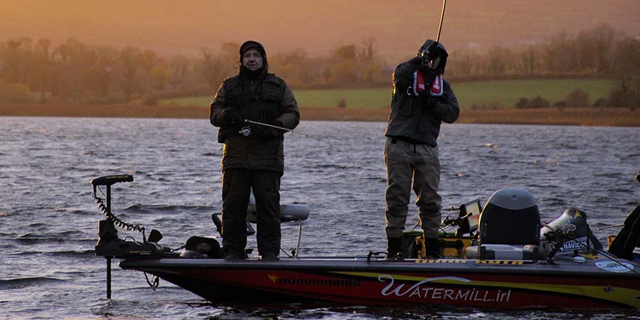
[[[311,208],[300,255],[365,255],[385,250],[384,123],[302,122],[285,136],[282,202]],[[638,311],[501,311],[434,306],[210,304],[93,252],[102,218],[90,179],[133,174],[114,188],[114,213],[181,247],[215,235],[222,147],[206,119],[0,117],[0,318],[151,319],[639,319]],[[443,207],[486,198],[504,187],[533,193],[543,221],[565,208],[587,213],[591,228],[622,223],[638,203],[640,128],[444,125],[439,139]],[[348,154],[348,157],[344,154]],[[414,198],[415,199],[415,198]],[[417,219],[411,205],[407,228]],[[450,213],[443,211],[443,216]],[[285,224],[293,248],[296,225]],[[594,231],[606,237],[618,228]],[[120,237],[140,233],[119,230]],[[250,240],[255,247],[255,239]]]

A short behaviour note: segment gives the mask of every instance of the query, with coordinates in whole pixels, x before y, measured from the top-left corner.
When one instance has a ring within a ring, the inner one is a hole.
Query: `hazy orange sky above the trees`
[[[262,41],[267,51],[326,55],[371,38],[388,58],[435,38],[442,1],[0,0],[0,41],[77,38],[196,55],[203,47]],[[640,36],[640,0],[449,0],[441,40],[449,51],[544,41],[608,23]]]

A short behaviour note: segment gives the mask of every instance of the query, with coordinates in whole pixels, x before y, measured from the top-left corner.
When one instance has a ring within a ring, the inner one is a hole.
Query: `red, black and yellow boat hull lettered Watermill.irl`
[[[613,264],[612,264],[613,263]],[[614,262],[123,260],[213,303],[325,301],[491,308],[640,308],[640,276]],[[634,270],[639,265],[624,262]]]

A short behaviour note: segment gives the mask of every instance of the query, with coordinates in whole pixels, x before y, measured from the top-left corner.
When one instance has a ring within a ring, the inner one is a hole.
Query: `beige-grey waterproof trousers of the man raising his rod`
[[[402,140],[385,142],[387,191],[385,193],[387,238],[401,238],[405,230],[411,188],[417,196],[415,202],[425,238],[437,239],[441,219],[442,198],[438,195],[440,161],[438,147],[428,144],[410,144]],[[412,185],[413,182],[413,185]]]

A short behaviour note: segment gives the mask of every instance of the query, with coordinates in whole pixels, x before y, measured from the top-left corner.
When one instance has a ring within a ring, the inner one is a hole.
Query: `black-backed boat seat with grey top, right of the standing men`
[[[481,260],[536,260],[540,245],[540,213],[526,190],[496,191],[480,213],[479,245],[466,257]]]

